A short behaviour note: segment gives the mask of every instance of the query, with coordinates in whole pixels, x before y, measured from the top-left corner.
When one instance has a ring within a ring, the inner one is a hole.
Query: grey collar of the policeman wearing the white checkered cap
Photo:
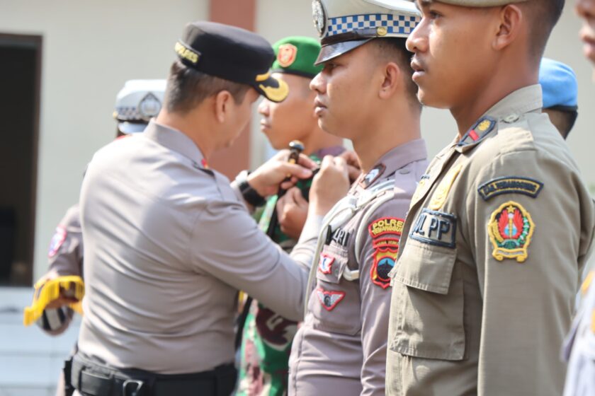
[[[415,139],[401,144],[385,153],[373,168],[361,176],[358,183],[363,188],[374,185],[378,180],[386,179],[397,170],[404,168],[405,165],[414,161],[422,161],[428,157],[426,141],[424,139]]]

